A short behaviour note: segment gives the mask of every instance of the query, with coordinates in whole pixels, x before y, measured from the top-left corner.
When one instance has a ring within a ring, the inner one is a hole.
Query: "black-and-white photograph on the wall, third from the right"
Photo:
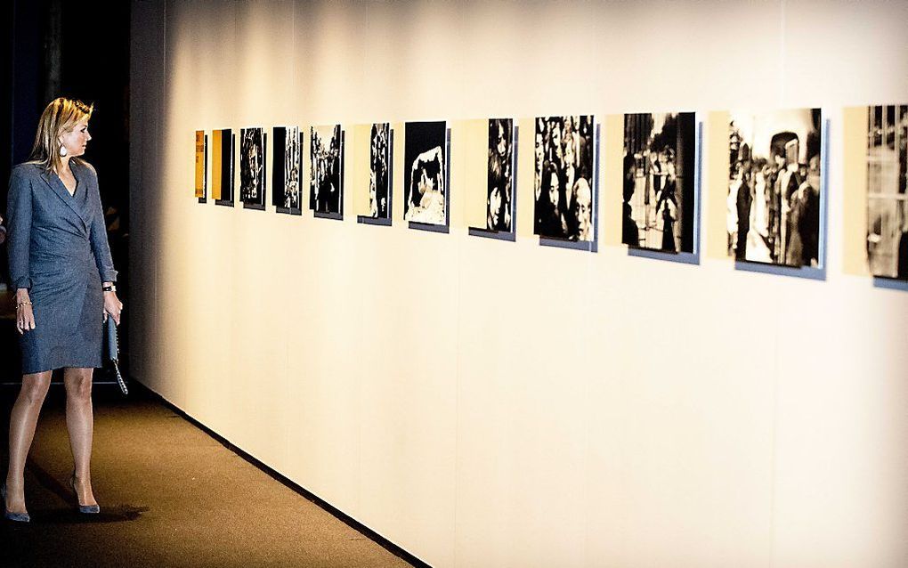
[[[625,115],[622,243],[694,252],[694,113]]]

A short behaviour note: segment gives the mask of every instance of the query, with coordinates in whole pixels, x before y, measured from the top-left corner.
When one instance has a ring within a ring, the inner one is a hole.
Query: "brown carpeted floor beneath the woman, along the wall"
[[[9,410],[0,390],[7,463]],[[95,387],[94,494],[73,512],[63,385],[44,403],[26,468],[32,523],[3,521],[0,566],[410,566],[134,388]]]

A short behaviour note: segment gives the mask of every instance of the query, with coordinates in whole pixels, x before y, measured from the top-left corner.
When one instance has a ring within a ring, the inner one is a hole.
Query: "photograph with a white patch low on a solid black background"
[[[447,224],[448,125],[407,123],[406,128],[403,218],[417,223]]]

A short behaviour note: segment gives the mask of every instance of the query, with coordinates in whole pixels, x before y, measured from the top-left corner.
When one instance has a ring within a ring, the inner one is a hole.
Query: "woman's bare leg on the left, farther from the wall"
[[[6,471],[6,510],[25,513],[25,459],[35,439],[35,426],[44,397],[51,385],[51,372],[25,374],[22,389],[9,420],[9,469]]]

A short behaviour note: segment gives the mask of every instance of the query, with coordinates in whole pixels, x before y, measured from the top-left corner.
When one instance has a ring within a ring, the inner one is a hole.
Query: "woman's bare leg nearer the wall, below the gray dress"
[[[94,369],[66,368],[66,428],[75,463],[75,493],[79,504],[94,505],[92,493],[92,439],[94,411],[92,409],[92,374]]]

